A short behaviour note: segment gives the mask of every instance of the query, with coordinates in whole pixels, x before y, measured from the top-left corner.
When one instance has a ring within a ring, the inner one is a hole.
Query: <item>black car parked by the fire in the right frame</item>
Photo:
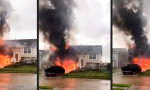
[[[128,64],[127,66],[122,67],[121,70],[124,75],[133,75],[140,73],[142,68],[138,64]]]

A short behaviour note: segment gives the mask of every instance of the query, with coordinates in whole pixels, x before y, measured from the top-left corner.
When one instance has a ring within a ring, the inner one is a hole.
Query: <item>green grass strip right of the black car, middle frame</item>
[[[107,79],[110,80],[110,73],[107,70],[96,71],[74,71],[65,74],[63,78],[87,78],[87,79]]]

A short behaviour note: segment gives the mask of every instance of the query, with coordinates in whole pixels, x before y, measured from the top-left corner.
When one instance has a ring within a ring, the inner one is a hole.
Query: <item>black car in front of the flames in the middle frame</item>
[[[45,75],[47,77],[61,76],[65,74],[65,69],[61,66],[51,66],[48,69],[45,69]]]

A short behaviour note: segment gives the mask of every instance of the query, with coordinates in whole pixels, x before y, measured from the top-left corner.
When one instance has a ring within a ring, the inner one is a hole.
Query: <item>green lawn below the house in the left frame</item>
[[[36,65],[13,64],[0,69],[0,73],[37,73]]]

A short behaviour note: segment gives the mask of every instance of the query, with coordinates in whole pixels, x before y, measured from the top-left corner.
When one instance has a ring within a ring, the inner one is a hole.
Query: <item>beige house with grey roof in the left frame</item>
[[[37,59],[37,39],[5,40],[12,48],[12,62],[34,63]]]

